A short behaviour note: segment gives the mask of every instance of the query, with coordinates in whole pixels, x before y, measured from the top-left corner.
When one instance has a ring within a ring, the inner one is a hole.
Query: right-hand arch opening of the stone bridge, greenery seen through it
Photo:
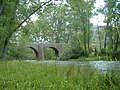
[[[45,60],[56,60],[59,56],[59,51],[55,47],[45,48]]]

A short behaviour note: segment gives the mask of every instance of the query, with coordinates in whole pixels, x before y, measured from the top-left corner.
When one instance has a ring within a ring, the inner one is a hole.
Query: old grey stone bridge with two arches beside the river
[[[63,53],[64,44],[63,43],[30,43],[27,47],[34,50],[37,59],[45,60],[45,49],[51,48],[55,51],[55,55],[59,57]]]

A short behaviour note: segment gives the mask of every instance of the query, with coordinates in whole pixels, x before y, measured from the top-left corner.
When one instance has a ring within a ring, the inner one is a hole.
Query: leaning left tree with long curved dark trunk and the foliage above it
[[[26,22],[33,13],[37,12],[42,6],[46,5],[50,1],[43,3],[41,6],[37,6],[37,9],[31,12],[31,8],[34,8],[33,6],[35,5],[32,4],[32,2],[19,0],[0,0],[0,58],[5,57],[8,43],[13,33],[16,32],[18,28],[20,28],[21,25]],[[28,3],[30,6],[27,6]]]

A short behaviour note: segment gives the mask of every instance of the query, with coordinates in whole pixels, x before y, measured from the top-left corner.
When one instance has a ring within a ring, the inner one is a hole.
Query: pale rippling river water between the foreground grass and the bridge
[[[118,70],[120,71],[120,61],[36,61],[36,60],[26,60],[26,62],[31,63],[45,63],[45,64],[60,64],[60,65],[74,65],[77,67],[90,66],[97,70],[107,71],[107,70]]]

